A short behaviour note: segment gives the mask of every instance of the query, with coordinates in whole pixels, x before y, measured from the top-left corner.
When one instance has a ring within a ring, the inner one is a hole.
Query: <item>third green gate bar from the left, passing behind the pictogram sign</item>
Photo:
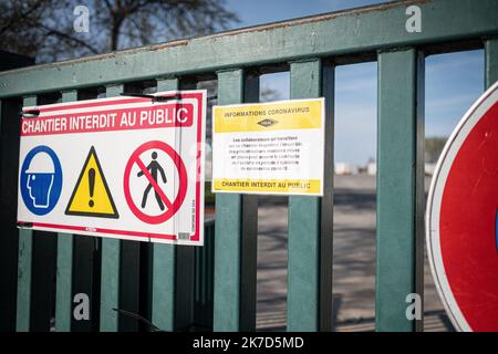
[[[123,85],[106,86],[106,97],[118,96],[124,91]],[[118,316],[113,309],[120,308],[120,261],[121,241],[102,239],[102,273],[101,273],[101,332],[118,331]]]

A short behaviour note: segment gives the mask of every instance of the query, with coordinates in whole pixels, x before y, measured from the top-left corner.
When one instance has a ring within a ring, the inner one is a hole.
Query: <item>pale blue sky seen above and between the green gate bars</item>
[[[292,18],[381,3],[378,0],[229,0],[248,27]],[[484,52],[459,52],[426,59],[425,134],[448,136],[484,92]],[[376,150],[376,63],[336,67],[335,162],[363,165]],[[262,87],[289,97],[289,74],[264,75]]]

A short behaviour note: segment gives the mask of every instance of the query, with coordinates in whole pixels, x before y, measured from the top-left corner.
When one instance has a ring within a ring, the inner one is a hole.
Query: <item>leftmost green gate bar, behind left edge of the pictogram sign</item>
[[[23,98],[23,106],[37,105],[37,96]],[[33,231],[19,230],[18,259],[18,301],[15,329],[18,332],[30,331],[31,320],[31,271],[33,261]]]

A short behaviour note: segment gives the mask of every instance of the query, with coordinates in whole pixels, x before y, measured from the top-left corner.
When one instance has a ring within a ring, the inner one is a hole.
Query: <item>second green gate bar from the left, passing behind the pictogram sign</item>
[[[77,101],[77,91],[62,93],[62,102]],[[73,236],[58,235],[58,264],[55,285],[55,331],[70,332],[72,319]]]

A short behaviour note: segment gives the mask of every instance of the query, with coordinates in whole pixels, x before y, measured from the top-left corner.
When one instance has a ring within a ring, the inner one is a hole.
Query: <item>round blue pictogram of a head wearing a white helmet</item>
[[[58,204],[62,189],[62,168],[55,153],[41,145],[24,158],[20,176],[21,196],[34,215],[45,215]]]

